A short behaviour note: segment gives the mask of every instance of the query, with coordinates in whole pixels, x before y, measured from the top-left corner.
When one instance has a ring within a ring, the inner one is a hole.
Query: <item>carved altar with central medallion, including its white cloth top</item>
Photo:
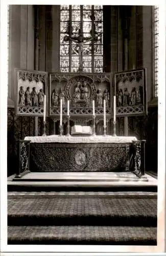
[[[19,142],[19,172],[145,174],[145,141],[124,136],[37,136]]]

